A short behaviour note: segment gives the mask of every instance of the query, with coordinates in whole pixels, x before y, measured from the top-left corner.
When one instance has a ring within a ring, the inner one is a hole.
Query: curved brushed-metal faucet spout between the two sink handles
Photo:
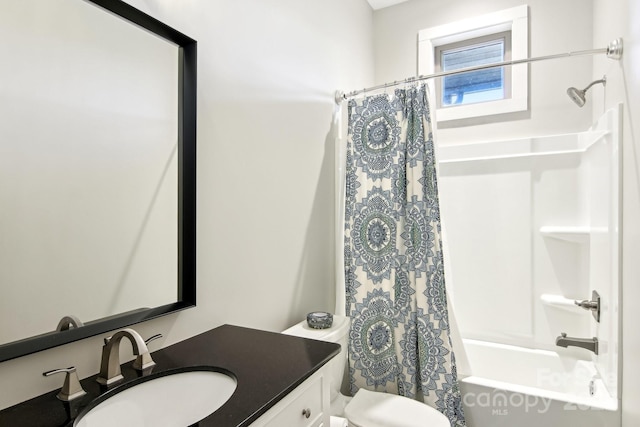
[[[133,363],[135,369],[142,371],[155,365],[151,354],[149,354],[147,344],[140,334],[130,328],[122,329],[104,339],[100,375],[96,379],[100,384],[111,385],[123,379],[122,371],[120,370],[120,341],[124,337],[131,341],[133,354],[138,356]]]

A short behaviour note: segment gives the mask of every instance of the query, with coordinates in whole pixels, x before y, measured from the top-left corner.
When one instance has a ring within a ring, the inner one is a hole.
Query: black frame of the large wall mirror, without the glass
[[[144,322],[196,305],[197,42],[122,0],[85,0],[175,43],[178,55],[178,292],[177,302],[87,322],[0,345],[0,362]],[[27,319],[28,321],[28,319]],[[55,327],[55,325],[52,325]]]

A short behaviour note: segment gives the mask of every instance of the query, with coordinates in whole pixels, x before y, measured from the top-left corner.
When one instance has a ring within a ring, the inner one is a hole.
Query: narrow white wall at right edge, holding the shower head
[[[622,426],[640,425],[640,3],[636,0],[594,0],[593,43],[624,39],[622,61],[594,60],[593,77],[607,74],[600,108],[624,103],[622,147]],[[599,104],[599,105],[598,105]]]

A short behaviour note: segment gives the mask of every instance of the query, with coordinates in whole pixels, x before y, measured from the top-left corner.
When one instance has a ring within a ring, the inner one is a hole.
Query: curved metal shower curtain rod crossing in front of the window
[[[404,83],[414,83],[422,80],[434,79],[437,77],[445,77],[453,74],[468,73],[470,71],[485,70],[488,68],[503,67],[506,65],[528,64],[530,62],[546,61],[547,59],[567,58],[570,56],[582,56],[582,55],[596,55],[601,53],[606,53],[607,57],[610,59],[619,60],[620,58],[622,58],[622,39],[617,38],[611,41],[611,43],[609,43],[609,46],[601,49],[579,50],[575,52],[558,53],[555,55],[538,56],[534,58],[524,58],[524,59],[514,59],[512,61],[494,62],[492,64],[476,65],[473,67],[460,68],[460,69],[451,70],[451,71],[441,71],[439,73],[434,73],[434,74],[408,77],[404,80],[396,80],[390,83],[383,83],[383,84],[380,84],[377,86],[371,86],[365,89],[354,90],[349,93],[344,93],[338,90],[336,91],[335,99],[336,99],[336,104],[340,104],[345,99],[351,98],[360,93],[370,92],[378,89],[386,89],[388,87],[397,86],[399,84],[404,84]]]

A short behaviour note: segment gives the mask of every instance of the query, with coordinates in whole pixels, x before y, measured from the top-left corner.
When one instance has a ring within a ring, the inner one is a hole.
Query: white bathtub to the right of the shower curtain
[[[593,362],[554,351],[464,339],[459,375],[468,427],[611,427],[618,401]]]

